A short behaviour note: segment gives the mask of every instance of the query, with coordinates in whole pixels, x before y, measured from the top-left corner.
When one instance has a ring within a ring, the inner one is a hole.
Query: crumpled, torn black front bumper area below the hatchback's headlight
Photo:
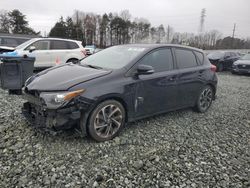
[[[74,105],[66,105],[59,109],[47,109],[33,95],[24,94],[24,98],[28,101],[24,103],[22,113],[27,120],[37,128],[46,129],[68,129],[79,123],[81,114],[88,110],[90,103],[78,99],[74,101]]]

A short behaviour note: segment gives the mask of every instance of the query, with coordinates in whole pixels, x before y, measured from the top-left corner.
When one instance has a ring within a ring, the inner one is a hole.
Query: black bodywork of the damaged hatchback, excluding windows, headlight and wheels
[[[200,90],[206,85],[210,85],[214,94],[216,93],[217,76],[211,70],[211,64],[202,51],[178,45],[125,46],[139,46],[145,50],[126,66],[112,71],[71,64],[51,68],[33,76],[24,88],[27,96],[32,95],[39,99],[40,93],[44,91],[81,89],[85,91],[58,109],[48,109],[44,103],[39,105],[29,99],[24,109],[28,113],[32,112],[35,118],[45,117],[41,118],[41,121],[46,121],[47,127],[58,127],[79,121],[80,114],[85,116],[87,123],[88,115],[101,101],[115,99],[126,109],[126,119],[130,122],[171,110],[192,107],[198,99]],[[136,69],[141,59],[161,48],[171,50],[173,69],[149,75],[137,75]],[[197,51],[203,54],[204,61],[201,65],[197,62],[197,66],[192,68],[179,69],[176,64],[175,48],[184,48],[192,53]],[[95,54],[91,57],[95,57]],[[66,114],[62,113],[64,110]]]

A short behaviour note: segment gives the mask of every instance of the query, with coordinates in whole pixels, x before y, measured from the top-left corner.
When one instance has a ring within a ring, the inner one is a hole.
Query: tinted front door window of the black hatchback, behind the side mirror
[[[170,49],[159,49],[146,55],[140,64],[150,65],[155,72],[162,72],[173,69],[173,57]]]

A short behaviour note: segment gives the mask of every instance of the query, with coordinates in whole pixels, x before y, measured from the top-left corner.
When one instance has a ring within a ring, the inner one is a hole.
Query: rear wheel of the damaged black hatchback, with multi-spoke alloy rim
[[[212,87],[209,85],[205,86],[200,92],[200,95],[195,105],[195,110],[200,113],[206,112],[212,104],[213,97],[214,91]]]

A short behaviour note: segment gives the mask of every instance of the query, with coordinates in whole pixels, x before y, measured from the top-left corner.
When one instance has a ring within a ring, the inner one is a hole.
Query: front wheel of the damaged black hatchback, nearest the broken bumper
[[[89,135],[98,142],[113,139],[124,126],[125,115],[125,109],[120,102],[101,102],[90,114],[87,124]]]

